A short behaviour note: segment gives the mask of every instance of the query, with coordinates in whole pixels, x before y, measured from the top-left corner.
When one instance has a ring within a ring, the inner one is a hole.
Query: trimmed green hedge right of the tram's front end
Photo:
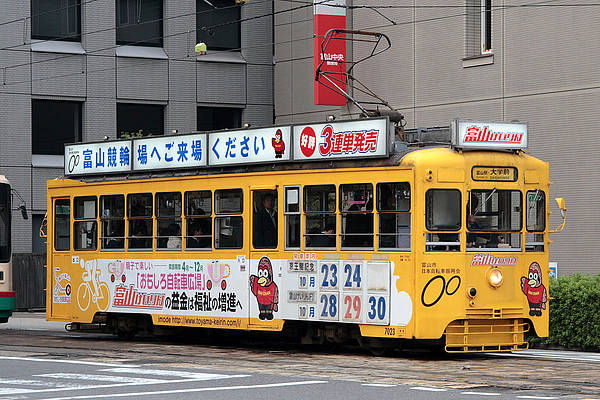
[[[532,344],[600,350],[600,275],[550,279],[550,335]]]

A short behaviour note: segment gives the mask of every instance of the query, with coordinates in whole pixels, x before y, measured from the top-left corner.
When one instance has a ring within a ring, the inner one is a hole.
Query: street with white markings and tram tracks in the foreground
[[[246,335],[0,330],[2,399],[595,399],[600,354],[373,357]]]

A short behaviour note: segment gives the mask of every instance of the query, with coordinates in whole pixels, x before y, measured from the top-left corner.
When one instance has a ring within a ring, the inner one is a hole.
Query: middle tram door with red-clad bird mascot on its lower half
[[[278,298],[283,259],[280,245],[280,196],[277,186],[250,187],[251,230],[249,257],[250,325],[270,325],[279,318]]]

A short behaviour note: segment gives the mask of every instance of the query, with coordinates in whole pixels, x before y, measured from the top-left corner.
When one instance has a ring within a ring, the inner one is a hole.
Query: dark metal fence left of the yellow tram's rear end
[[[18,311],[46,308],[46,255],[13,254],[13,290]]]

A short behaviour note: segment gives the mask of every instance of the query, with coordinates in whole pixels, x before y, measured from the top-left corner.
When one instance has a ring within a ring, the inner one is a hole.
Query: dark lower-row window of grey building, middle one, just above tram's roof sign
[[[117,138],[132,134],[162,135],[164,106],[154,104],[117,104]]]

